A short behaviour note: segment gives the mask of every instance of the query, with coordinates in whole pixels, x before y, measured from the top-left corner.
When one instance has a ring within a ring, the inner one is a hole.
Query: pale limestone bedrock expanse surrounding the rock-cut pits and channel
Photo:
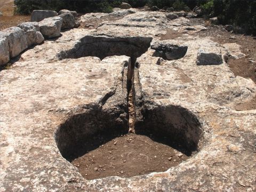
[[[238,103],[255,97],[256,86],[251,79],[235,76],[225,62],[230,53],[237,55],[236,49],[193,36],[191,27],[204,27],[189,26],[187,18],[132,10],[119,11],[125,14],[102,21],[96,29],[64,31],[0,71],[0,191],[256,190],[256,110],[235,110]],[[97,14],[95,20],[101,18]],[[175,39],[175,45],[187,47],[178,59],[164,60],[150,48],[148,39],[165,45],[163,52],[173,47],[173,41],[163,43],[158,37],[167,28],[187,34]],[[99,38],[107,42],[105,50],[69,55],[90,45],[94,49]],[[145,43],[143,53],[134,39]],[[122,41],[121,52],[104,55],[112,53],[116,41]],[[124,52],[126,47],[138,53]],[[215,55],[218,62],[197,65],[199,50]],[[100,60],[101,55],[106,58]],[[138,57],[135,63],[133,56]],[[131,80],[132,65],[135,130],[154,125],[166,133],[181,133],[180,139],[198,153],[166,172],[86,180],[61,155],[72,139],[61,140],[60,125],[97,108],[113,117],[110,125],[127,130],[126,82],[127,77]]]

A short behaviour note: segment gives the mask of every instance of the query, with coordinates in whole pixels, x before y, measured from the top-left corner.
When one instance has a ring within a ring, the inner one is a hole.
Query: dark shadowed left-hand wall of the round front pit
[[[128,132],[125,109],[84,105],[78,110],[81,113],[70,115],[54,135],[61,155],[70,162]]]

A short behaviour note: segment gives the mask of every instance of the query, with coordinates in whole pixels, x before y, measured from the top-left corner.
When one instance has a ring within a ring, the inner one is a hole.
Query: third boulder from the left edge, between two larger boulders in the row
[[[25,31],[28,47],[34,44],[40,44],[44,41],[43,35],[40,33],[38,22],[23,22],[18,25]]]

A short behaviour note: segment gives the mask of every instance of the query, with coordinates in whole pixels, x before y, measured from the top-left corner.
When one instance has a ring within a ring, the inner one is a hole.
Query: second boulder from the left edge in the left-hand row
[[[0,31],[0,36],[7,38],[11,58],[28,48],[25,32],[19,27],[4,29]]]

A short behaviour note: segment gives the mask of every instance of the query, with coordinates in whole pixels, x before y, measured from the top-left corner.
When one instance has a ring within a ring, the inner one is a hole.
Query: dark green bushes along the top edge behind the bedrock
[[[241,26],[248,33],[256,34],[256,0],[15,0],[16,12],[30,14],[33,10],[61,9],[75,10],[81,13],[111,12],[122,2],[132,7],[158,6],[173,7],[174,10],[191,10],[200,6],[206,18],[218,17],[221,24]]]

